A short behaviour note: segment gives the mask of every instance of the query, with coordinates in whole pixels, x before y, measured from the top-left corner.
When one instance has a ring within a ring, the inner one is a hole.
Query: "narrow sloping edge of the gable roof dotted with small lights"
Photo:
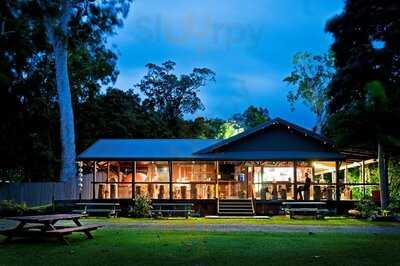
[[[314,133],[314,132],[312,132],[312,131],[310,131],[308,129],[305,129],[303,127],[300,127],[298,125],[295,125],[293,123],[290,123],[290,122],[278,117],[278,118],[272,119],[272,120],[270,120],[270,121],[268,121],[266,123],[263,123],[263,124],[255,127],[255,128],[246,130],[246,131],[244,131],[244,132],[242,132],[240,134],[237,134],[237,135],[235,135],[233,137],[230,137],[230,138],[228,138],[226,140],[222,140],[220,142],[215,143],[214,145],[211,145],[211,146],[206,147],[206,148],[204,148],[202,150],[199,150],[199,151],[196,152],[196,154],[205,154],[205,153],[215,152],[216,150],[218,150],[218,149],[220,149],[222,147],[229,146],[232,143],[235,143],[235,142],[237,142],[239,140],[242,140],[242,139],[247,138],[247,137],[249,137],[251,135],[254,135],[255,133],[258,133],[258,132],[260,132],[262,130],[268,129],[268,128],[274,126],[274,125],[279,125],[279,124],[284,125],[287,128],[290,128],[292,130],[295,130],[295,131],[303,134],[305,137],[313,138],[313,139],[321,142],[324,145],[330,145],[331,147],[334,147],[334,143],[332,141],[330,141],[329,139],[323,137],[322,135],[316,134],[316,133]]]

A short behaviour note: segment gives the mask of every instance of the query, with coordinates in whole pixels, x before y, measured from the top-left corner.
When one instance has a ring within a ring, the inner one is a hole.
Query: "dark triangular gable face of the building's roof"
[[[323,136],[276,118],[196,153],[241,151],[335,152],[335,149],[333,143]]]

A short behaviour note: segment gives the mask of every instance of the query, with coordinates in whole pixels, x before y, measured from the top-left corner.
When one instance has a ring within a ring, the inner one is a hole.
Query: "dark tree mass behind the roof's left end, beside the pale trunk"
[[[166,125],[160,114],[146,109],[133,90],[109,88],[105,94],[79,103],[77,110],[77,146],[80,152],[99,138],[166,137]]]

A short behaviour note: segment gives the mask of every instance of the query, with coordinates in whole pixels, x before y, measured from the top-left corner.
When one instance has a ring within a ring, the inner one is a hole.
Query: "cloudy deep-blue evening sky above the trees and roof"
[[[110,39],[115,86],[132,88],[149,62],[175,61],[177,73],[208,67],[216,82],[202,88],[205,110],[194,116],[228,118],[255,105],[311,128],[313,114],[303,104],[291,112],[282,80],[294,53],[329,49],[325,23],[342,8],[342,0],[137,0]]]

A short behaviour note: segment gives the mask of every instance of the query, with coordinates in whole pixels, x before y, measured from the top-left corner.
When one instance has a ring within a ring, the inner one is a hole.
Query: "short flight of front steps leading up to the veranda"
[[[218,215],[254,216],[251,199],[218,199]]]

